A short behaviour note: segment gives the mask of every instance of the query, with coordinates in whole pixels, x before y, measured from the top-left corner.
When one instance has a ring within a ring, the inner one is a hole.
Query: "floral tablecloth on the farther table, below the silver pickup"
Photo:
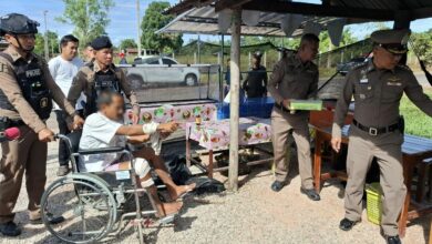
[[[176,122],[195,122],[197,115],[202,121],[216,121],[217,108],[215,103],[203,104],[178,104],[169,105],[164,104],[161,106],[141,108],[140,123],[144,122],[157,122],[166,123],[169,121]],[[132,111],[126,111],[125,122],[131,123]]]

